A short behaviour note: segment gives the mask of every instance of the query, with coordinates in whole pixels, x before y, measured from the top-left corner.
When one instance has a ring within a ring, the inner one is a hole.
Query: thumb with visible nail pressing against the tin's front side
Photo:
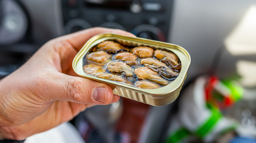
[[[60,100],[83,104],[109,104],[119,100],[119,96],[114,96],[111,87],[104,83],[63,73],[52,78],[54,83],[46,86],[48,92],[52,91],[51,95],[48,95],[51,102]]]

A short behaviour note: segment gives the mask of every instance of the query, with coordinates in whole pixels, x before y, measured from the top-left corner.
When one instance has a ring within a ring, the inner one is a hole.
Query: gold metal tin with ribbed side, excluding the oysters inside
[[[130,46],[149,46],[155,49],[172,51],[181,60],[180,74],[170,84],[156,89],[142,89],[132,87],[125,84],[117,83],[115,81],[97,78],[95,76],[86,74],[83,71],[83,57],[92,47],[105,40],[115,40],[117,42]],[[108,84],[110,87],[112,87],[114,94],[154,106],[167,105],[176,100],[186,78],[189,65],[190,56],[188,52],[178,45],[116,34],[100,34],[92,37],[77,53],[72,64],[74,71],[79,76]]]

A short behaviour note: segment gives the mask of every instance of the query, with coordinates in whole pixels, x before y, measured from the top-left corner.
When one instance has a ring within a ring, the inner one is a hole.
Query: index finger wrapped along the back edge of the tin
[[[103,28],[103,27],[94,27],[88,28],[82,31],[78,31],[65,36],[65,39],[76,49],[80,50],[81,47],[85,44],[87,40],[92,38],[93,36],[100,33],[115,33],[120,35],[127,35],[131,37],[136,37],[132,33],[120,30],[120,29],[112,29],[112,28]]]

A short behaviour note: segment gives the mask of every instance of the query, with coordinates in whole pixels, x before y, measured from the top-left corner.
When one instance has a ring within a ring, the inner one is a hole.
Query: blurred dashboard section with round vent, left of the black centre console
[[[48,40],[63,35],[59,0],[0,0],[0,78]]]

